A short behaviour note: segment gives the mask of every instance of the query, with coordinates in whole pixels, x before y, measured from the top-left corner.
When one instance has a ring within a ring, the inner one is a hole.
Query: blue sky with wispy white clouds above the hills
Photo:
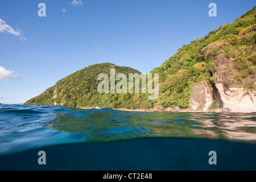
[[[39,3],[46,16],[39,16]],[[216,3],[217,16],[209,16]],[[0,1],[0,103],[22,104],[97,63],[149,73],[255,1]]]

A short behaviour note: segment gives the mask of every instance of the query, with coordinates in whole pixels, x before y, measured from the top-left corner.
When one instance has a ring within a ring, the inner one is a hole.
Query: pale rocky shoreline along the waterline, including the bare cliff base
[[[193,87],[192,97],[189,100],[189,108],[181,109],[175,107],[174,109],[162,106],[155,106],[151,109],[124,109],[117,108],[114,110],[125,111],[150,111],[150,112],[210,112],[210,113],[255,113],[256,112],[256,91],[245,88],[229,88],[224,85],[224,82],[218,78],[213,88],[210,88],[207,82],[201,81]],[[211,109],[217,102],[218,108]],[[81,109],[102,109],[100,107],[79,107]]]

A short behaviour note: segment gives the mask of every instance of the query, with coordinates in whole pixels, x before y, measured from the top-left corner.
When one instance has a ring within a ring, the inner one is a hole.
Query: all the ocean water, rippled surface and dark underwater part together
[[[0,104],[0,170],[255,169],[255,113]]]

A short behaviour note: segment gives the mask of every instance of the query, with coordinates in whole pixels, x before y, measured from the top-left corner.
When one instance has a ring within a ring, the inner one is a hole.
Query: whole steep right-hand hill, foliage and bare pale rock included
[[[160,75],[166,111],[256,112],[256,6],[178,49]]]

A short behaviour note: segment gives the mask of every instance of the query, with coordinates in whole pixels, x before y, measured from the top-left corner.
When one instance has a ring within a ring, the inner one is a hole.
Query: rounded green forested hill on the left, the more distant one
[[[97,86],[100,73],[108,74],[110,69],[115,69],[115,75],[125,73],[138,73],[136,69],[118,67],[111,63],[94,64],[81,69],[71,75],[57,81],[56,85],[48,88],[39,96],[27,101],[26,105],[60,105],[65,107],[113,107],[113,108],[138,108],[152,107],[147,101],[146,95],[141,94],[112,94],[98,93]],[[118,81],[117,81],[118,82]],[[138,97],[138,95],[142,97]]]

